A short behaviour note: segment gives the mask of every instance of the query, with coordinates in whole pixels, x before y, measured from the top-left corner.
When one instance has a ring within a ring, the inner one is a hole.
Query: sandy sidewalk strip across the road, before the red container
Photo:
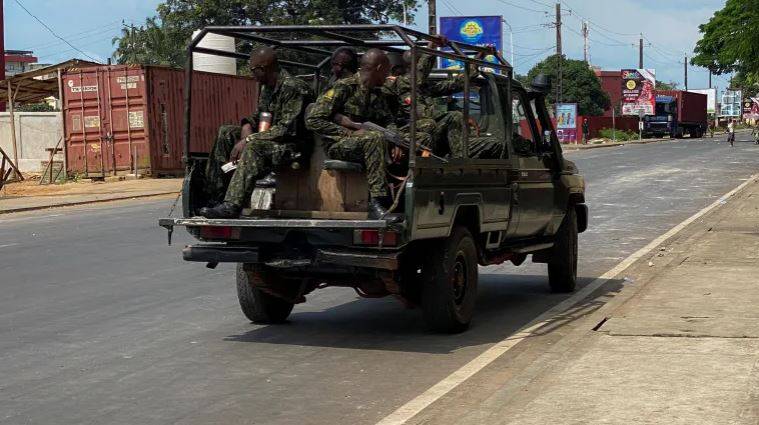
[[[0,190],[0,214],[177,194],[181,187],[182,179],[140,179],[48,186],[40,186],[37,181],[11,183]]]

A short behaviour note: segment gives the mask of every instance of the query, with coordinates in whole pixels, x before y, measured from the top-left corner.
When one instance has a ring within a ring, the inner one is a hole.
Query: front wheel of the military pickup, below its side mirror
[[[573,206],[556,234],[548,260],[548,284],[553,292],[572,292],[577,285],[577,212]]]

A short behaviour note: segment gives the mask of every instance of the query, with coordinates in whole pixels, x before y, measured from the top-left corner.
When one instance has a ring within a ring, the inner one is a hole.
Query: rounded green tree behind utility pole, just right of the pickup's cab
[[[558,55],[552,55],[536,64],[527,73],[527,81],[538,74],[551,77],[556,84]],[[601,87],[601,81],[585,61],[562,59],[562,102],[577,103],[580,115],[602,115],[611,106],[609,95]],[[548,102],[556,102],[556,90],[548,94]]]

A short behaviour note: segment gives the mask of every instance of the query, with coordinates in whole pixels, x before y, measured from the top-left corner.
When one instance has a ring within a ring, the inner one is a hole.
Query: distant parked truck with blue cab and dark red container
[[[657,90],[654,115],[643,118],[646,136],[702,137],[706,132],[706,95],[683,90]]]

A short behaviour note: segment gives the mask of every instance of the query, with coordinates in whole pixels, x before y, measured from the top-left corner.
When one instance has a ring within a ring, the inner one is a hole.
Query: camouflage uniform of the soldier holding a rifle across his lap
[[[324,137],[324,149],[329,158],[359,162],[366,167],[366,179],[372,197],[388,195],[385,154],[387,142],[381,133],[352,132],[333,119],[343,114],[354,122],[371,121],[383,127],[393,127],[396,100],[383,88],[366,89],[358,74],[344,78],[319,96],[306,119],[309,130]]]

